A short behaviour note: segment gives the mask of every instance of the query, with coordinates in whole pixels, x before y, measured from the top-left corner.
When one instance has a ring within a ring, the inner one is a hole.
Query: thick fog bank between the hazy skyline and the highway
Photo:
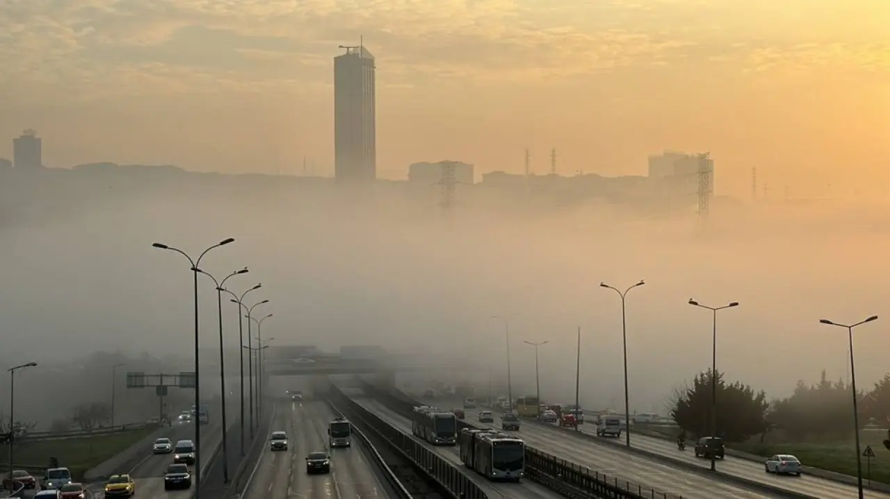
[[[226,186],[91,191],[77,208],[0,228],[0,360],[40,364],[17,375],[17,404],[48,407],[36,372],[92,352],[191,355],[190,265],[153,242],[197,255],[235,238],[200,267],[219,278],[249,267],[226,287],[262,282],[247,301],[271,300],[255,314],[274,314],[263,323],[272,345],[384,345],[476,366],[465,377],[481,380],[490,367],[502,379],[505,329],[491,316],[518,314],[514,395],[534,390],[534,349],[523,341],[546,340],[542,397],[574,397],[580,327],[582,402],[598,407],[623,398],[621,302],[599,283],[624,289],[644,279],[627,295],[631,406],[641,411],[661,410],[711,363],[711,315],[687,305],[691,297],[740,302],[718,314],[718,369],[774,397],[823,368],[846,377],[845,331],[819,319],[881,315],[890,297],[881,279],[888,225],[873,207],[726,203],[702,226],[694,215],[640,218],[602,206],[470,208],[459,192],[443,217],[434,199],[418,202],[398,186],[368,197],[274,180]],[[209,279],[199,284],[200,342],[215,348],[217,297]],[[223,300],[226,348],[237,352],[238,310]],[[886,371],[883,321],[856,331],[861,388]]]

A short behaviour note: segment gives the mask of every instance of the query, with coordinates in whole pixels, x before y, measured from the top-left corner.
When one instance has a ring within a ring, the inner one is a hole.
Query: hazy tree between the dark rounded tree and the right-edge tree
[[[852,397],[852,387],[843,381],[829,381],[823,370],[818,384],[798,381],[790,397],[776,401],[772,419],[776,427],[795,440],[843,439],[853,433]],[[862,417],[860,424],[864,423]]]

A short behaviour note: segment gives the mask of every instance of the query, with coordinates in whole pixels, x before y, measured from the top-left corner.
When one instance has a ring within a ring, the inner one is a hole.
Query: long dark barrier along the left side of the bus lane
[[[354,400],[347,397],[334,384],[331,385],[330,398],[333,399],[336,404],[347,409],[347,411],[359,421],[367,424],[368,427],[380,435],[382,439],[390,442],[395,451],[405,456],[411,463],[415,463],[417,468],[424,471],[430,479],[435,481],[441,489],[446,491],[451,497],[459,497],[461,499],[488,499],[488,495],[482,492],[481,488],[476,486],[476,484],[473,483],[473,480],[467,477],[462,471],[452,466],[448,461],[429,448],[425,448],[420,442],[411,438],[410,435],[401,432],[390,424],[386,424],[374,413],[361,407]]]

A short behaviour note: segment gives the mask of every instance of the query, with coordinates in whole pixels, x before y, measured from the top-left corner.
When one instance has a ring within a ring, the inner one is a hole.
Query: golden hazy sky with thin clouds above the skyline
[[[711,151],[724,193],[752,166],[854,192],[890,159],[888,21],[878,0],[6,0],[0,156],[34,127],[50,166],[328,172],[331,58],[364,35],[383,177],[519,171],[524,147],[640,173],[670,147]]]

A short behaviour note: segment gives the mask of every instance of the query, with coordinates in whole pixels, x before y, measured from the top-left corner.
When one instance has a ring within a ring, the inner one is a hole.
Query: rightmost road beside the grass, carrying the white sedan
[[[581,425],[581,431],[586,433],[595,433],[594,428],[593,425],[590,425],[589,427],[587,427],[587,424]],[[624,443],[623,436],[620,442],[615,441],[614,439],[603,440],[610,440],[606,443],[611,445],[623,445]],[[702,459],[695,456],[695,453],[692,451],[694,442],[689,442],[689,447],[686,448],[687,452],[679,452],[677,451],[676,444],[670,440],[635,434],[633,433],[633,429],[631,429],[630,444],[635,448],[641,448],[659,455],[667,455],[671,458],[684,461],[685,463],[699,465],[702,468],[708,468],[710,466],[710,461],[708,459]],[[793,450],[793,448],[789,448],[789,454],[793,454]],[[822,479],[808,475],[801,477],[786,477],[766,473],[764,471],[763,463],[755,463],[753,461],[748,461],[747,459],[732,457],[731,455],[727,455],[724,460],[718,460],[716,465],[718,471],[724,471],[725,473],[730,473],[737,477],[754,480],[785,490],[794,490],[795,492],[800,492],[805,495],[813,495],[814,497],[820,497],[822,499],[857,497],[859,494],[855,486],[829,479]],[[874,490],[866,490],[865,496],[870,499],[890,499],[890,494],[884,494]]]

